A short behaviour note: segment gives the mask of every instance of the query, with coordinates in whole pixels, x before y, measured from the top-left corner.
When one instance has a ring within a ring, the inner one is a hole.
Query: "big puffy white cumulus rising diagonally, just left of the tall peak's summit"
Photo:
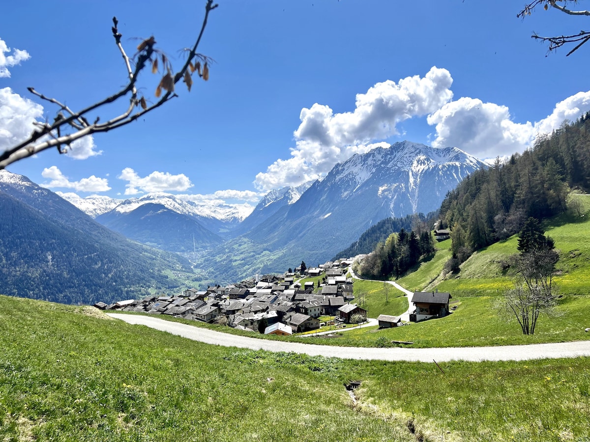
[[[318,103],[303,108],[291,157],[278,159],[266,172],[258,173],[255,186],[259,190],[297,186],[319,178],[355,153],[387,146],[373,141],[397,134],[396,125],[401,121],[439,109],[453,98],[452,83],[450,72],[432,67],[424,77],[376,83],[365,94],[356,95],[352,112],[335,114]]]

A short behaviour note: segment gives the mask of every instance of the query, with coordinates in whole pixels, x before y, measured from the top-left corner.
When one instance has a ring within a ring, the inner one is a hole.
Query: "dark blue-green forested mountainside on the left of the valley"
[[[178,255],[112,232],[57,194],[0,170],[0,293],[94,304],[175,288]]]

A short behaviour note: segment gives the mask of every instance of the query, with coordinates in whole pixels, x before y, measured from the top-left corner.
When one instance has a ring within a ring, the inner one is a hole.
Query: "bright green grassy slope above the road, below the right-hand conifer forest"
[[[582,202],[583,211],[590,210],[590,196],[574,197]],[[590,327],[590,296],[587,296],[590,295],[589,223],[588,216],[566,213],[543,225],[560,251],[555,282],[561,297],[556,315],[540,316],[534,336],[522,335],[516,321],[501,315],[497,308],[502,293],[512,286],[510,271],[503,270],[505,266],[502,264],[517,253],[515,235],[474,253],[461,265],[461,272],[448,275],[449,279],[442,278],[441,271],[451,256],[451,242],[439,242],[432,259],[398,280],[400,285],[412,291],[436,288],[440,292],[450,292],[453,296],[451,306],[457,307],[452,315],[396,329],[359,329],[329,341],[314,338],[313,342],[373,347],[391,345],[391,341],[411,341],[414,347],[471,347],[590,339],[584,332]],[[399,314],[392,305],[384,305],[381,282],[356,281],[355,296],[358,297],[360,292],[368,293],[370,317],[381,313]]]

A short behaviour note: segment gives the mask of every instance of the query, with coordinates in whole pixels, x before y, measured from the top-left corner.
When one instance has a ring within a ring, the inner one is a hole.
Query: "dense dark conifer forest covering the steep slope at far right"
[[[568,193],[590,189],[590,113],[537,138],[532,149],[478,170],[447,194],[443,225],[451,229],[453,257],[473,252],[568,208]],[[575,204],[575,203],[574,203]],[[575,209],[575,207],[572,207]]]

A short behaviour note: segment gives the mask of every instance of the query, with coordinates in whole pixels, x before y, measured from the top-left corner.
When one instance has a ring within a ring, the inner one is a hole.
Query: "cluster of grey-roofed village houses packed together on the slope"
[[[294,273],[283,276],[266,275],[258,280],[242,281],[228,286],[210,286],[207,290],[186,289],[177,296],[150,296],[129,299],[100,309],[149,314],[171,315],[177,318],[212,322],[224,316],[227,325],[258,331],[261,324],[265,334],[289,335],[317,329],[320,315],[336,316],[350,322],[353,314],[366,317],[366,311],[355,304],[352,279],[346,279],[350,260],[329,262],[307,271],[309,276],[325,273],[322,283],[295,282]]]

